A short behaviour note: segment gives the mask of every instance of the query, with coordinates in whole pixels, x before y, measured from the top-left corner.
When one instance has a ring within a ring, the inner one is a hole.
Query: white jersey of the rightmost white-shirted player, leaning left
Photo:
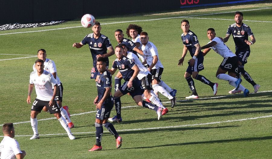
[[[219,37],[213,38],[212,41],[215,41],[217,43],[212,47],[212,49],[223,58],[236,56]],[[212,41],[210,41],[209,43],[211,43]]]

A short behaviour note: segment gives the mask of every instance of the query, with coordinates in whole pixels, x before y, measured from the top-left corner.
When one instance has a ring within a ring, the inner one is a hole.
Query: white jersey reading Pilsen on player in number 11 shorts
[[[35,85],[37,99],[50,101],[53,96],[52,87],[57,84],[57,81],[51,73],[44,70],[40,76],[38,76],[37,71],[31,72],[29,83]]]

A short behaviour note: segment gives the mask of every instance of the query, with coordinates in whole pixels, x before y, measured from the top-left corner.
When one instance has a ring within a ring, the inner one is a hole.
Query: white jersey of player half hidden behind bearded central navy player
[[[147,68],[144,67],[144,65],[141,63],[141,61],[138,59],[138,57],[133,54],[132,52],[128,52],[127,58],[131,59],[132,61],[134,61],[134,63],[136,63],[136,65],[139,67],[140,72],[138,73],[137,77],[138,79],[142,79],[145,76],[149,74],[151,74]]]

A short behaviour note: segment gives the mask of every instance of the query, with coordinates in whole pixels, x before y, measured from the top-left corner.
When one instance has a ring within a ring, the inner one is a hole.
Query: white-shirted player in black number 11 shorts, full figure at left
[[[53,77],[51,73],[44,70],[43,60],[40,60],[40,59],[36,60],[35,68],[36,68],[36,71],[33,71],[30,73],[30,80],[29,80],[29,86],[28,86],[28,98],[27,98],[27,103],[30,104],[31,93],[35,85],[35,91],[36,91],[37,97],[32,104],[31,114],[30,114],[30,122],[31,122],[34,135],[30,138],[30,140],[40,138],[38,133],[37,115],[41,112],[44,106],[47,107],[50,114],[54,114],[54,116],[58,119],[61,126],[66,130],[68,137],[71,140],[74,140],[75,137],[71,133],[71,130],[68,127],[66,120],[61,116],[59,105],[55,102],[55,97],[58,91],[56,79]],[[54,89],[52,89],[52,86],[54,87]]]

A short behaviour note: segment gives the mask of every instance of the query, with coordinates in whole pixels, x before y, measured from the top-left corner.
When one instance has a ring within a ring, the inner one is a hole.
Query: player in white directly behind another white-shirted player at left
[[[70,114],[68,112],[68,106],[67,105],[62,106],[63,86],[62,86],[62,83],[60,82],[60,78],[57,75],[56,64],[54,63],[53,60],[46,58],[46,51],[44,49],[38,50],[37,57],[38,57],[38,59],[44,61],[44,70],[50,72],[54,76],[54,78],[56,79],[57,86],[58,86],[56,101],[57,101],[58,105],[60,106],[60,113],[63,116],[63,118],[65,118],[66,122],[68,123],[69,128],[73,128],[74,124],[73,124],[73,122],[71,122]],[[33,65],[33,71],[36,71],[35,64]],[[48,112],[48,109],[46,107],[44,107],[43,110],[45,112]]]

